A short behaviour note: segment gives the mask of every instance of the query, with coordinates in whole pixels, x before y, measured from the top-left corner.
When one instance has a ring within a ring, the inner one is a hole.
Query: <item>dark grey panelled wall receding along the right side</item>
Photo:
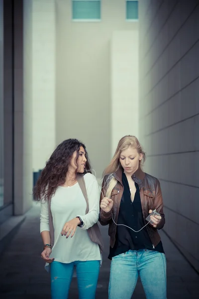
[[[140,141],[165,231],[199,271],[199,1],[141,0]]]

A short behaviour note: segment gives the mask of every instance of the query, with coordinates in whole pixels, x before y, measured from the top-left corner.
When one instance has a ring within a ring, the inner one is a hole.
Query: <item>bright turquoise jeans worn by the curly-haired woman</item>
[[[74,266],[76,266],[79,299],[95,299],[100,272],[100,261],[76,261],[70,264],[52,262],[51,298],[67,299]]]

